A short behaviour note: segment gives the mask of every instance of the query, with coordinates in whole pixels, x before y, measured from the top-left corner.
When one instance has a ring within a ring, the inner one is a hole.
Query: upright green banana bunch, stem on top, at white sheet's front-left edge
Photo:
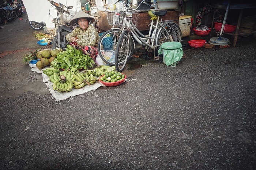
[[[73,88],[72,80],[67,80],[64,75],[60,76],[60,80],[55,81],[52,84],[53,90],[57,90],[59,92],[68,92]]]

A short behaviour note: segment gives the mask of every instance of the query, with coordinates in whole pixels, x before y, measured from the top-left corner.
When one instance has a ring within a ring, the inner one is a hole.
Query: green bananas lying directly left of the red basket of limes
[[[73,87],[76,89],[82,88],[86,85],[94,84],[99,81],[99,79],[94,77],[93,74],[87,75],[87,74],[77,73],[77,74],[74,74],[73,76],[76,79],[76,81],[72,80]]]

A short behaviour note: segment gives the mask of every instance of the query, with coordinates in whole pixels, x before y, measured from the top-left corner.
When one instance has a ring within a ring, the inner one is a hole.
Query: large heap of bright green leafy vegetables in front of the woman
[[[95,63],[90,56],[83,54],[82,50],[77,50],[68,44],[65,51],[58,53],[51,64],[53,68],[67,70],[68,68],[87,69],[93,67]]]

